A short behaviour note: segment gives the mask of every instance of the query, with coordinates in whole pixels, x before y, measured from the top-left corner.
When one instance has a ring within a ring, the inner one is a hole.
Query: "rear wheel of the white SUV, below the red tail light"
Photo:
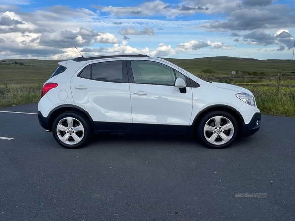
[[[89,119],[78,112],[64,112],[53,122],[52,134],[59,145],[68,149],[80,148],[91,137]]]

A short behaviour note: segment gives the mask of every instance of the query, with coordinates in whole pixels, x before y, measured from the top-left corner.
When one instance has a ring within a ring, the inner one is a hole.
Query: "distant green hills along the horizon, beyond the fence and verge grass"
[[[202,76],[202,70],[209,68],[215,76],[231,76],[232,70],[241,73],[255,72],[273,76],[278,73],[286,75],[295,74],[295,61],[293,60],[257,60],[239,57],[204,57],[195,59],[164,58],[192,74]],[[3,59],[4,60],[4,59]],[[3,61],[0,60],[0,63]],[[34,81],[44,83],[59,66],[62,60],[36,60],[36,59],[5,59],[7,64],[0,64],[0,84],[9,82]],[[12,64],[22,63],[23,65]]]

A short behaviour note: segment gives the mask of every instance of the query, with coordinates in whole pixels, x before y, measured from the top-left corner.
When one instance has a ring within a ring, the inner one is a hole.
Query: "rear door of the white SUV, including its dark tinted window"
[[[125,59],[89,63],[71,80],[75,105],[86,110],[97,130],[131,130],[131,101]]]

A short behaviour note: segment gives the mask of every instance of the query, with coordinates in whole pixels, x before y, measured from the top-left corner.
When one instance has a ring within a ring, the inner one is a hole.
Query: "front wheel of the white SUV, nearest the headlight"
[[[198,138],[209,148],[221,149],[230,146],[238,134],[236,118],[226,111],[211,111],[205,114],[197,127]]]

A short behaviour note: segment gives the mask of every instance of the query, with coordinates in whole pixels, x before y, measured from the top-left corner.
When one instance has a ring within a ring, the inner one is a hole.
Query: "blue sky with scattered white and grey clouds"
[[[292,59],[295,0],[0,0],[0,60]]]

